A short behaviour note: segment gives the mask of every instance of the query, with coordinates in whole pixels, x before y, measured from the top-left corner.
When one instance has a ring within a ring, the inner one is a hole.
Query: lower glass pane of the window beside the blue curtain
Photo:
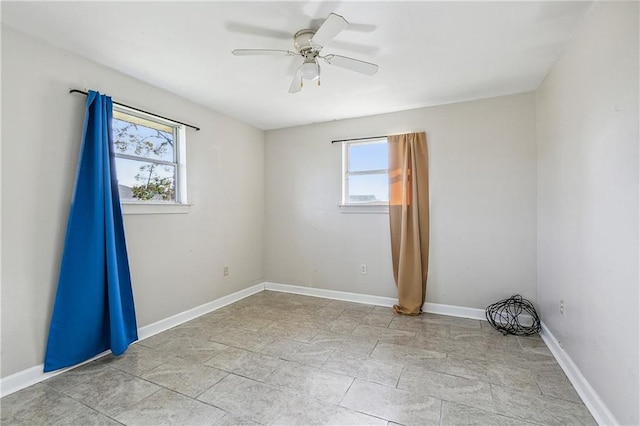
[[[175,166],[116,157],[122,201],[176,201]]]

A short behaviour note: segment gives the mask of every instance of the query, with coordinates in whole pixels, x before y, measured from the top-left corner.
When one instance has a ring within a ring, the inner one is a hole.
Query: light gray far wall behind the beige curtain
[[[426,131],[427,301],[536,299],[535,97],[520,94],[266,132],[265,278],[395,297],[386,214],[345,214],[332,139]],[[360,265],[368,266],[367,275]]]

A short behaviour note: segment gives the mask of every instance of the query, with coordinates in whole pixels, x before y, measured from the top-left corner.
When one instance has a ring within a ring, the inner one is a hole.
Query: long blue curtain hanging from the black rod
[[[44,371],[138,339],[111,134],[111,98],[89,91]]]

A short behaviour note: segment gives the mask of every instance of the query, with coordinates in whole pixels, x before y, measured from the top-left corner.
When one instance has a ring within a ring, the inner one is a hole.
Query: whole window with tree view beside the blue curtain
[[[184,126],[113,107],[113,145],[123,204],[186,204]]]

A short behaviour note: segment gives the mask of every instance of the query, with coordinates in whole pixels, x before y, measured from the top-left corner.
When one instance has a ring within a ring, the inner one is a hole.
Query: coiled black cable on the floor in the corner
[[[522,313],[531,318],[531,325],[520,324]],[[519,294],[487,306],[485,316],[489,324],[504,335],[530,336],[541,329],[540,318],[533,304]]]

